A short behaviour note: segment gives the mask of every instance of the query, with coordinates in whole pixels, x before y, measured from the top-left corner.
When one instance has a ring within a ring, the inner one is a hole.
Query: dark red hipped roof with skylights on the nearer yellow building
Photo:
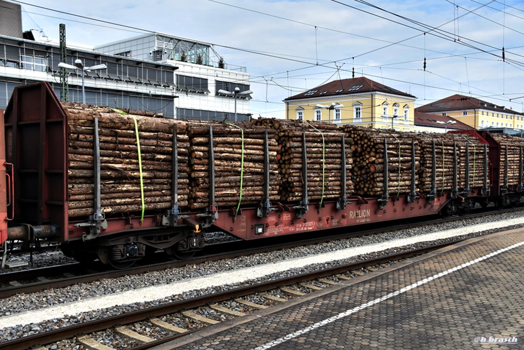
[[[416,98],[406,92],[402,92],[384,84],[377,83],[373,80],[367,79],[363,76],[352,79],[334,80],[329,83],[314,87],[300,94],[288,97],[284,101],[307,99],[309,97],[324,97],[336,95],[348,95],[362,92],[385,92],[395,95],[407,96]]]

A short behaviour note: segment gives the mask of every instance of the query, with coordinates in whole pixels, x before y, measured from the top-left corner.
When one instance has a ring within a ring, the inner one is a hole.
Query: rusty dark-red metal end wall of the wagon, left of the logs
[[[67,113],[48,83],[17,86],[5,111],[15,223],[57,224],[67,240]],[[9,208],[8,208],[9,209]]]

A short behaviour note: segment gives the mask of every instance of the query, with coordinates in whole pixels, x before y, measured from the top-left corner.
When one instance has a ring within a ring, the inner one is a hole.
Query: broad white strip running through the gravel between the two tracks
[[[401,247],[418,242],[467,235],[474,232],[486,231],[488,229],[502,229],[504,227],[519,224],[524,224],[524,217],[447,229],[445,231],[439,231],[425,235],[399,238],[372,245],[346,248],[329,253],[315,254],[279,261],[278,263],[239,268],[210,276],[184,279],[158,286],[129,290],[96,298],[88,298],[81,301],[74,301],[52,306],[49,308],[42,308],[40,310],[31,310],[23,313],[2,316],[2,318],[0,318],[0,329],[13,327],[16,325],[39,323],[45,320],[62,318],[66,315],[79,314],[81,312],[111,308],[115,305],[153,301],[190,290],[241,283],[246,280],[261,278],[293,268],[300,268],[312,264],[322,264],[326,261],[347,259],[356,255],[386,250],[391,247]]]

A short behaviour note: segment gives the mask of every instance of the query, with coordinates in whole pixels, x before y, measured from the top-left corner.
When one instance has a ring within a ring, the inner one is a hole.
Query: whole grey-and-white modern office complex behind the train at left
[[[81,71],[67,70],[67,84],[61,81],[60,41],[23,32],[19,4],[0,0],[0,15],[5,19],[0,21],[0,109],[15,86],[38,81],[49,82],[63,100],[82,102]],[[66,36],[65,30],[56,31]],[[169,41],[178,46],[168,45]],[[240,92],[249,90],[249,74],[243,67],[225,63],[207,43],[156,33],[97,48],[65,43],[66,63],[80,59],[85,67],[107,67],[86,72],[88,104],[147,110],[171,118],[232,121],[235,110],[238,120],[250,117],[250,95],[237,95],[236,104],[234,99],[235,87]],[[67,88],[61,91],[62,86]]]

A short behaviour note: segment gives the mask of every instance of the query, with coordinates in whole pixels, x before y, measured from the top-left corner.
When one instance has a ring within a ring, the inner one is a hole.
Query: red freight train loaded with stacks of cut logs
[[[524,143],[476,130],[179,121],[61,103],[47,83],[16,87],[0,120],[2,265],[14,241],[126,267],[190,257],[204,232],[321,235],[524,202]]]

